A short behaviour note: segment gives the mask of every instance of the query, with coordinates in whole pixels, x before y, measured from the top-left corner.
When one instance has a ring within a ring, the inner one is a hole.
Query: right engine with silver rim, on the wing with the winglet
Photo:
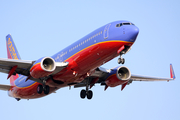
[[[130,78],[131,78],[130,70],[125,66],[121,66],[111,70],[105,83],[110,87],[115,87],[128,82]]]

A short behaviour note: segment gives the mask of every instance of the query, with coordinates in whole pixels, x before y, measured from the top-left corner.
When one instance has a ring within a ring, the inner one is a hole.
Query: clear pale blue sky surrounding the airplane
[[[92,100],[80,99],[81,88],[63,88],[44,98],[21,100],[0,91],[0,119],[179,120],[180,119],[179,0],[1,0],[0,58],[6,58],[5,36],[11,34],[23,60],[51,56],[93,30],[116,20],[129,20],[139,36],[124,57],[131,73],[169,77],[171,82],[133,82],[92,88]],[[118,66],[117,58],[103,65]],[[0,84],[9,84],[0,73]]]

